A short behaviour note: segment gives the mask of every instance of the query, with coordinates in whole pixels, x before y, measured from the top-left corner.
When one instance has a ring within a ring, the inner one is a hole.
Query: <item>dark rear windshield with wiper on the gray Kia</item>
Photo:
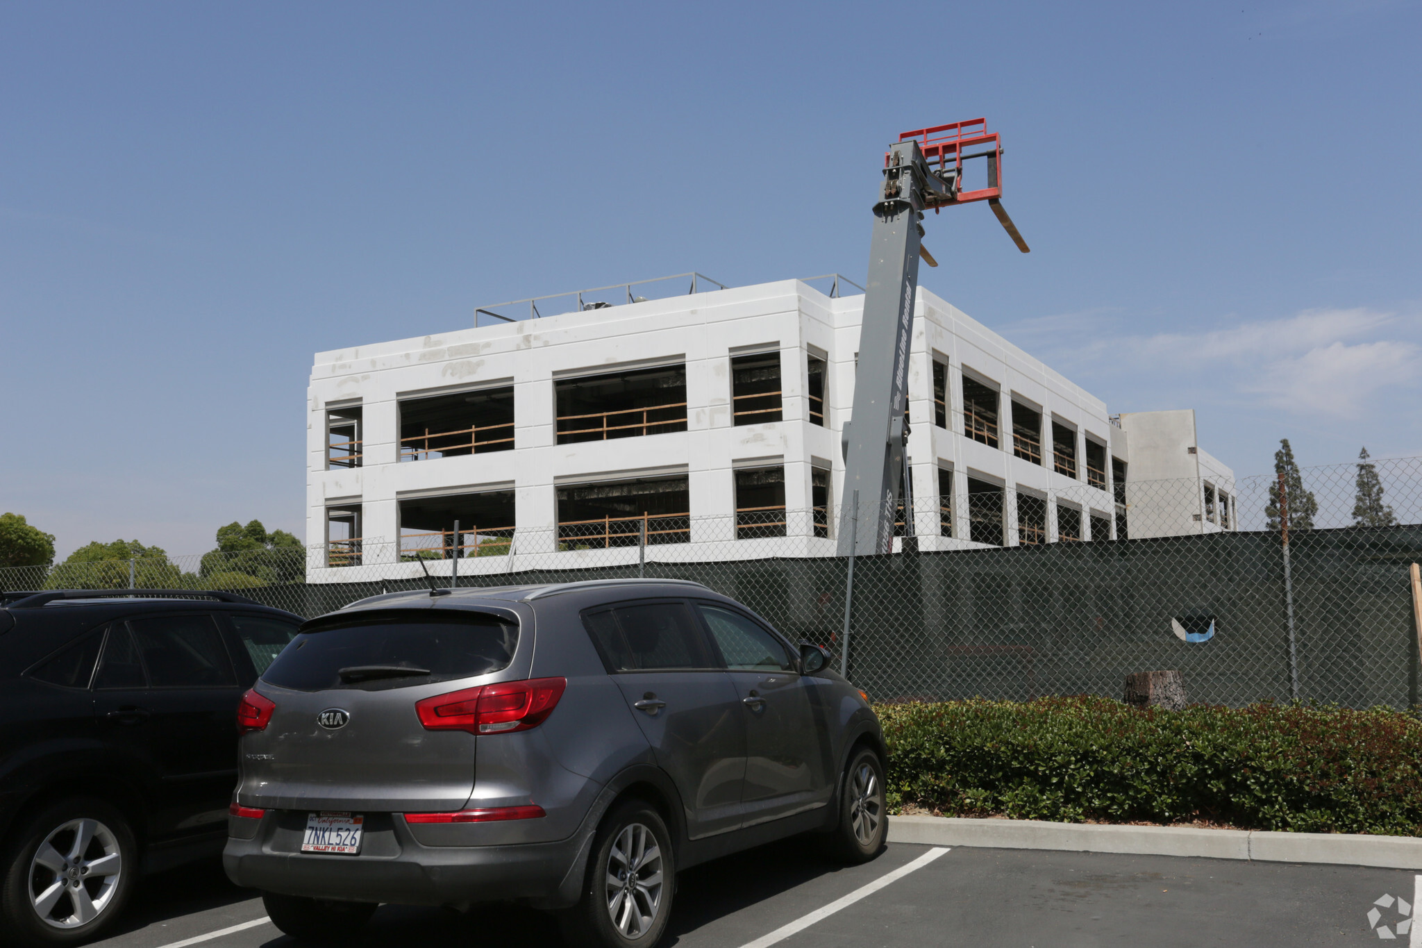
[[[518,625],[478,613],[373,620],[301,632],[262,681],[294,691],[410,688],[506,668],[518,642]]]

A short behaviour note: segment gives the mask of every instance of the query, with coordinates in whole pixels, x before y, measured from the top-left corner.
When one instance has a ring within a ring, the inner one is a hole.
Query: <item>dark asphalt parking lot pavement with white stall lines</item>
[[[683,873],[663,945],[1362,945],[1379,941],[1374,925],[1392,934],[1395,900],[1411,904],[1416,887],[1413,873],[1385,868],[910,844],[843,867],[788,840]],[[1384,895],[1394,901],[1375,905]],[[260,898],[202,864],[145,880],[118,932],[95,944],[299,944],[263,917]],[[519,907],[384,905],[348,948],[411,944],[562,942],[552,920]]]

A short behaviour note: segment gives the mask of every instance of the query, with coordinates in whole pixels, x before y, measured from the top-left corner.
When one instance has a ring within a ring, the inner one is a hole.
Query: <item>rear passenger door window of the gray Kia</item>
[[[637,603],[590,613],[583,623],[611,671],[711,668],[683,603]]]

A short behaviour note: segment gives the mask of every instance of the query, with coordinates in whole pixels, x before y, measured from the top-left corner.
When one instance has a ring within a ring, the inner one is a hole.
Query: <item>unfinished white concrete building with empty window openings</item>
[[[307,539],[340,578],[454,546],[455,520],[462,571],[513,569],[489,556],[513,529],[519,569],[634,561],[643,527],[660,559],[832,556],[862,306],[784,280],[319,352]],[[1138,500],[1170,505],[1149,536],[1229,529],[1193,411],[1118,426],[921,287],[912,352],[920,549],[1135,537]],[[1142,472],[1202,486],[1132,497]]]

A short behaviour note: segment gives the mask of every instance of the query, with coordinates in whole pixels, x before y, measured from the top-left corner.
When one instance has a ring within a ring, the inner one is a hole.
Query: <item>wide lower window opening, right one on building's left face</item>
[[[691,542],[687,478],[569,485],[557,489],[557,549],[590,550]]]

